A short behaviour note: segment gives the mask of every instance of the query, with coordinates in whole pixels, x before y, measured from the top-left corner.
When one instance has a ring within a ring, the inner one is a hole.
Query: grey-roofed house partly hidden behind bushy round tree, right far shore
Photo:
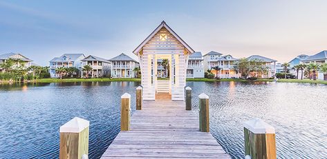
[[[274,77],[274,75],[276,74],[276,60],[274,59],[269,59],[267,57],[264,56],[259,56],[259,55],[252,55],[250,57],[247,57],[247,60],[252,61],[252,60],[257,60],[257,61],[263,61],[265,62],[265,66],[268,67],[268,74],[264,75],[261,74],[261,78],[270,78],[270,77]],[[254,74],[250,74],[250,76],[254,76]]]

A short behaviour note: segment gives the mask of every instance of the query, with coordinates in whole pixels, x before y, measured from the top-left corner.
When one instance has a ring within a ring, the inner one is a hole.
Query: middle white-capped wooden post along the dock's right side
[[[207,94],[198,95],[199,98],[199,120],[200,131],[209,132],[209,96]]]

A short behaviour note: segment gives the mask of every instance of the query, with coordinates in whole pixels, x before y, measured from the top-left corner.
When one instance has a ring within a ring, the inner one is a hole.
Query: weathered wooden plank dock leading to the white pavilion
[[[144,100],[102,158],[230,158],[210,133],[199,131],[198,115],[183,101]]]

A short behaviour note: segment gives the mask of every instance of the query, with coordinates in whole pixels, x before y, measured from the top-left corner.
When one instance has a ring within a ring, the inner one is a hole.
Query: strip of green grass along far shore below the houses
[[[58,79],[58,78],[44,78],[39,79],[35,81],[35,83],[70,83],[70,82],[114,82],[114,81],[133,81],[133,82],[140,82],[140,78],[64,78],[64,79]],[[186,81],[195,81],[195,82],[219,82],[219,81],[235,81],[235,82],[272,82],[272,79],[262,78],[257,79],[256,81],[247,81],[245,79],[239,79],[239,78],[223,78],[220,80],[217,79],[209,79],[209,78],[187,78]],[[309,79],[279,79],[277,82],[280,83],[320,83],[320,84],[326,84],[327,81],[313,81]]]

